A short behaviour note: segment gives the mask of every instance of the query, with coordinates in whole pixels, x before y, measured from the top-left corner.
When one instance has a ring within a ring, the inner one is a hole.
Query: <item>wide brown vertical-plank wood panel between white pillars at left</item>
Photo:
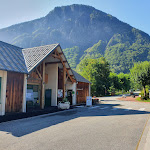
[[[8,72],[6,89],[6,112],[20,112],[23,103],[24,74]]]

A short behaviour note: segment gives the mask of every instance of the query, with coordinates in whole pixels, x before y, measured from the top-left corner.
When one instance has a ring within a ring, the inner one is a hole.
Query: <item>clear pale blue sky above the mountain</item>
[[[0,28],[40,18],[56,6],[85,4],[150,35],[150,0],[0,0]]]

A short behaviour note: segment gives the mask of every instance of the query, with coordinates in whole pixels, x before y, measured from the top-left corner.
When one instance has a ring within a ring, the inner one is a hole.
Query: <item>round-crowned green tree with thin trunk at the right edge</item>
[[[150,85],[150,62],[144,61],[135,63],[134,67],[130,69],[131,80],[143,87],[144,97],[146,97],[146,85]]]

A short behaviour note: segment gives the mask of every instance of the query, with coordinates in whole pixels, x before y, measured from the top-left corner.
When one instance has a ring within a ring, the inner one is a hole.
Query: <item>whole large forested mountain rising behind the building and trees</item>
[[[104,56],[115,72],[150,60],[150,36],[91,6],[56,7],[43,18],[0,29],[0,40],[20,47],[60,43],[71,66]]]

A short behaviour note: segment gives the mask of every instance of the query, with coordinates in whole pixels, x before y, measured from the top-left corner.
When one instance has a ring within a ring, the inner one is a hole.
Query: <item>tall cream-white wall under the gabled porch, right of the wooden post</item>
[[[58,64],[49,64],[45,68],[48,74],[48,83],[45,84],[45,89],[52,90],[52,106],[57,106],[57,90],[58,90]]]

